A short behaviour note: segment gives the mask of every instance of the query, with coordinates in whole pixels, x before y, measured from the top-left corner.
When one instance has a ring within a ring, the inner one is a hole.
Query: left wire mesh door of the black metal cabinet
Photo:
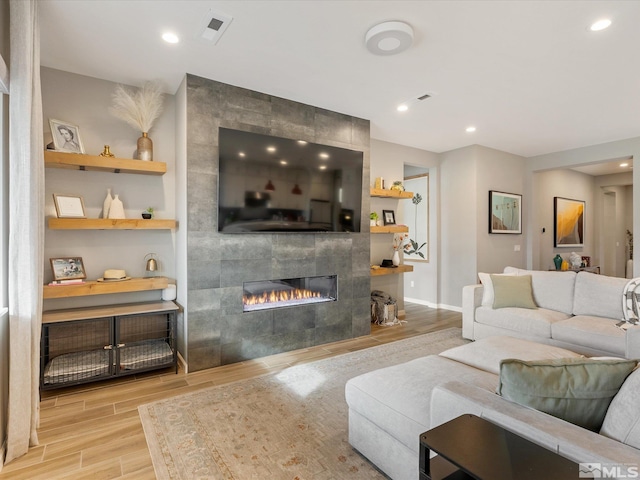
[[[113,376],[113,318],[43,323],[40,388],[93,382]]]

